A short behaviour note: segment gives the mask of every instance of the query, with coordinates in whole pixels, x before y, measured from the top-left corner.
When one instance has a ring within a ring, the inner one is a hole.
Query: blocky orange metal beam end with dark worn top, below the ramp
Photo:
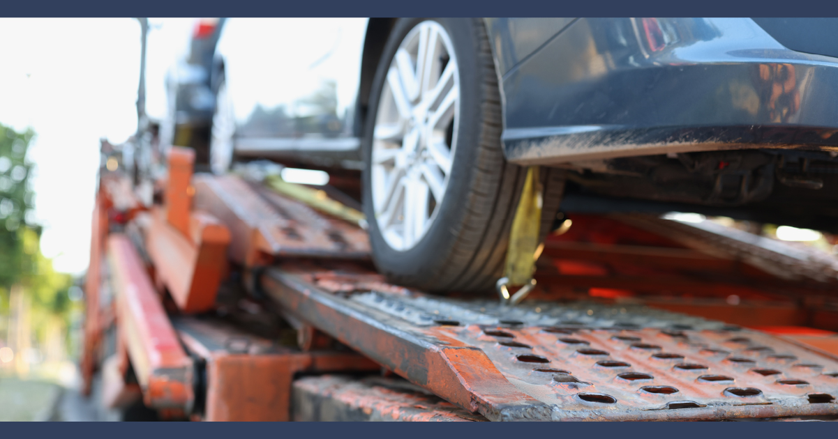
[[[204,421],[289,421],[291,387],[299,372],[378,371],[352,351],[301,352],[216,319],[178,317],[178,334],[205,363]]]

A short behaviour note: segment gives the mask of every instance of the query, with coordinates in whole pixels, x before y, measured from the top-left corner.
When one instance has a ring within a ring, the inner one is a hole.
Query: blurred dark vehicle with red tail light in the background
[[[209,160],[209,129],[215,110],[215,88],[210,72],[215,45],[225,18],[200,18],[194,25],[188,51],[178,59],[166,77],[169,145],[189,146],[196,151],[196,163]]]

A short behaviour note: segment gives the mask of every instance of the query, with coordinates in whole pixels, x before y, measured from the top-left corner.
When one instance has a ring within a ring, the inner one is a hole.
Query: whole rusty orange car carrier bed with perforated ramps
[[[101,174],[82,366],[111,407],[194,421],[838,418],[834,258],[709,222],[571,213],[522,303],[441,297],[386,283],[351,217],[192,176],[177,149],[169,169],[153,206]]]

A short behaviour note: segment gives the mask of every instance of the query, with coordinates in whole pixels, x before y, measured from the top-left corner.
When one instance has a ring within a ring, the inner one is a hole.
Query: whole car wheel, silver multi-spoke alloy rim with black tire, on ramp
[[[371,93],[362,145],[376,266],[393,282],[429,291],[490,288],[526,171],[501,151],[484,24],[400,19]]]

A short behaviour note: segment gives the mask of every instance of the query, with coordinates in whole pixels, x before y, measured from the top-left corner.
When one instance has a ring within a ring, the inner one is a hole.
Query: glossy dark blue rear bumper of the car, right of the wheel
[[[518,164],[679,151],[838,147],[838,59],[750,18],[583,18],[504,74]]]

